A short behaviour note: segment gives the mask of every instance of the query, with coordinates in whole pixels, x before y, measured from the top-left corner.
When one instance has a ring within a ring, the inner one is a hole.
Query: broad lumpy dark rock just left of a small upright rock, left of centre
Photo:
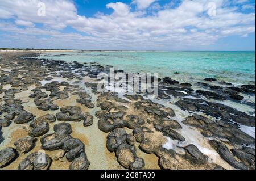
[[[60,109],[59,113],[56,113],[56,117],[59,121],[75,121],[82,120],[82,111],[77,106],[66,106]]]

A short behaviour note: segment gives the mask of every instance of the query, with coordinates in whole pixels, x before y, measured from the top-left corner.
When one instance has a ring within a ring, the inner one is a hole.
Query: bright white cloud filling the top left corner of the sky
[[[40,2],[46,6],[46,16],[38,15]],[[64,28],[67,20],[77,18],[76,7],[73,2],[68,0],[2,0],[0,7],[19,20],[43,23],[45,26],[56,29]]]

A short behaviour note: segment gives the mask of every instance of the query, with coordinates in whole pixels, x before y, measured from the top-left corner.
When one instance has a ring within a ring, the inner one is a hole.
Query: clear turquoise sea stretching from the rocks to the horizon
[[[47,53],[41,58],[98,62],[127,72],[159,73],[180,81],[205,77],[237,84],[255,82],[255,52],[72,52]],[[176,75],[174,72],[180,74]]]

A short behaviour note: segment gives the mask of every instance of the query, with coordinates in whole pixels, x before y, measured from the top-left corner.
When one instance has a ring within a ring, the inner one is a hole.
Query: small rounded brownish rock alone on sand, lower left
[[[28,153],[35,147],[36,141],[34,137],[25,137],[15,141],[14,145],[16,146],[16,150],[20,153]]]

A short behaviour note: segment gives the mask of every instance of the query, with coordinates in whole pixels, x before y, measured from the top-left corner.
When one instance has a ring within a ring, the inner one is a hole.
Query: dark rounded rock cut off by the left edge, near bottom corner
[[[8,147],[0,151],[0,168],[6,167],[11,162],[13,162],[18,153],[14,148]]]

